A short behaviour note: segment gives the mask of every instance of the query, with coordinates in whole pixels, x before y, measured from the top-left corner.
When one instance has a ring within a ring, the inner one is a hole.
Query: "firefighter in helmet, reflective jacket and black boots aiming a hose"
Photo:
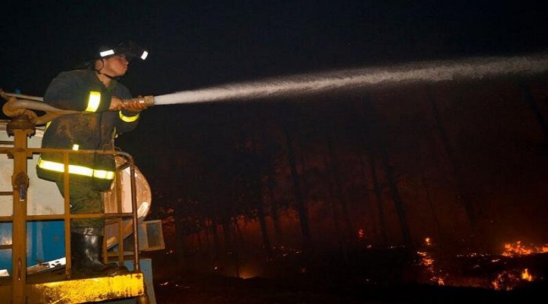
[[[62,115],[46,128],[42,148],[113,150],[114,137],[136,128],[146,105],[132,100],[127,87],[119,83],[130,59],[144,60],[148,53],[133,42],[99,48],[82,69],[61,72],[47,87],[44,101],[58,109],[82,111]],[[126,101],[126,102],[124,102]],[[64,195],[63,156],[42,153],[38,177],[56,182]],[[107,154],[70,154],[69,180],[72,214],[101,213],[103,191],[114,180],[114,158]],[[103,264],[104,219],[71,221],[73,275],[114,275],[115,264]],[[126,270],[127,271],[127,270]]]

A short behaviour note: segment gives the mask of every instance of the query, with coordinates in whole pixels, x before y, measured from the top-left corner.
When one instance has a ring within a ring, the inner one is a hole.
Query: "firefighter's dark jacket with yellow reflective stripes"
[[[105,87],[92,70],[62,72],[51,81],[44,101],[58,109],[84,111],[62,115],[46,128],[42,148],[113,150],[116,134],[133,130],[138,113],[108,111],[112,96],[132,98],[127,87],[112,81]],[[71,182],[90,184],[100,191],[110,189],[116,169],[108,154],[69,154]],[[60,182],[65,166],[61,153],[42,153],[36,167],[39,178]]]

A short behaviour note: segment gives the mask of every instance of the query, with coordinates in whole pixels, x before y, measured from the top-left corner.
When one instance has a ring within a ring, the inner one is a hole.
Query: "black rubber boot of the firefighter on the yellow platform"
[[[73,275],[97,277],[128,273],[114,263],[103,264],[103,236],[71,233]]]

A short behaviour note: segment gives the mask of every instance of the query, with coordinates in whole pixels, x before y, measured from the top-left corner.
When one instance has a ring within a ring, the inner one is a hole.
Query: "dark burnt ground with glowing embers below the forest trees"
[[[536,299],[547,290],[548,255],[525,257],[456,257],[440,265],[434,282],[432,268],[420,260],[393,252],[351,257],[338,264],[321,258],[321,264],[304,259],[269,261],[276,275],[242,279],[219,273],[183,268],[175,271],[169,259],[153,260],[161,273],[155,275],[158,303],[463,303],[464,301],[523,301]],[[312,259],[313,261],[314,259]],[[495,262],[494,262],[495,261]],[[163,264],[163,266],[162,266]],[[439,264],[439,263],[438,263]],[[493,266],[495,265],[495,266]],[[292,266],[295,271],[291,271]],[[162,268],[163,267],[163,268]],[[527,267],[533,281],[512,275]],[[161,270],[160,270],[161,268]],[[501,290],[493,289],[498,281]],[[542,299],[542,298],[540,298]]]

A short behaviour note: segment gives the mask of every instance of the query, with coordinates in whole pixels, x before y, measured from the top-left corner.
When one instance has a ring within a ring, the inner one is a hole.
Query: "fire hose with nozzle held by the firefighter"
[[[9,117],[25,115],[36,125],[46,124],[61,115],[88,113],[86,111],[58,109],[44,103],[42,97],[7,93],[3,92],[2,89],[0,89],[0,96],[5,100],[8,100],[2,107],[2,111],[5,115],[8,115]],[[140,96],[137,98],[125,99],[122,100],[122,102],[124,104],[128,104],[129,102],[140,102],[147,105],[147,107],[151,107],[154,105],[154,96]],[[34,111],[30,110],[43,111],[45,114],[38,116]]]

